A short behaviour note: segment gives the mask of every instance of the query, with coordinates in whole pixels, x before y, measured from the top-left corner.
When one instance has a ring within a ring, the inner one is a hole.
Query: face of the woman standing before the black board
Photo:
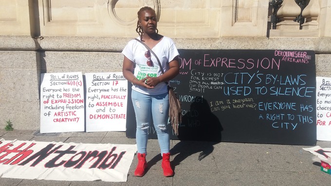
[[[157,21],[155,12],[152,10],[144,10],[139,15],[141,28],[145,34],[153,34],[156,31]]]

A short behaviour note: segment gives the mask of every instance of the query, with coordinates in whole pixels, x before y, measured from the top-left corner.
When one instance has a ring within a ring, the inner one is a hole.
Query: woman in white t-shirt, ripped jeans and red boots
[[[161,149],[163,173],[167,177],[173,176],[169,161],[171,127],[168,125],[169,99],[166,82],[179,73],[179,53],[172,39],[158,34],[157,17],[150,7],[143,7],[138,11],[136,32],[139,34],[137,38],[158,56],[162,67],[155,56],[137,40],[129,41],[122,51],[123,75],[132,83],[131,98],[137,122],[138,165],[134,175],[144,176],[147,169],[147,139],[152,119]]]

